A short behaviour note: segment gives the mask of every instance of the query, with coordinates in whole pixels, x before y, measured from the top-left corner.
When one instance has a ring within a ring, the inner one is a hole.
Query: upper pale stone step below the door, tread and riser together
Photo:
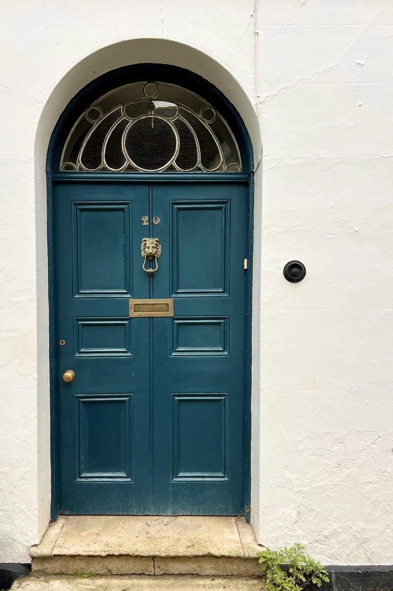
[[[257,576],[261,548],[244,518],[71,515],[30,556],[43,574]]]

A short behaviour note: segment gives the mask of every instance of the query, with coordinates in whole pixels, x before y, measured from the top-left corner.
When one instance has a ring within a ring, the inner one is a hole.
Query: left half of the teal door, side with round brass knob
[[[149,297],[140,272],[149,186],[57,184],[54,192],[60,512],[146,514],[150,502]],[[137,269],[137,272],[133,272]],[[62,374],[73,369],[66,384]]]

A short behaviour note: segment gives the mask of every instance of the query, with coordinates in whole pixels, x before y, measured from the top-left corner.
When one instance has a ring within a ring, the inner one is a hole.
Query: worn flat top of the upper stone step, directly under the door
[[[50,524],[30,556],[254,558],[260,549],[244,518],[70,515]]]

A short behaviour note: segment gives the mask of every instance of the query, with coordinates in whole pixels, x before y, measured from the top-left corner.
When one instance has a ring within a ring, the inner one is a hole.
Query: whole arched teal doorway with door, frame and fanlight
[[[81,91],[48,153],[52,517],[247,514],[250,140],[194,74]]]

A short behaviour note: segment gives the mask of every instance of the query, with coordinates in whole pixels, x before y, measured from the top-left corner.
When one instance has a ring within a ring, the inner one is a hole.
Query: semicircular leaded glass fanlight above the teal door
[[[201,96],[164,82],[135,82],[82,113],[60,170],[238,172],[242,166],[230,127]]]

